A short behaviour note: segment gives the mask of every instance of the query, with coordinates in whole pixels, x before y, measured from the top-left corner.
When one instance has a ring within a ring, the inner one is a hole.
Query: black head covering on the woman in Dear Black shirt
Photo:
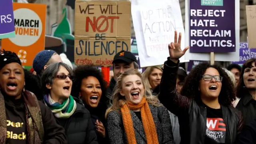
[[[21,65],[20,58],[15,52],[0,50],[0,70],[6,65],[12,62],[17,62]]]

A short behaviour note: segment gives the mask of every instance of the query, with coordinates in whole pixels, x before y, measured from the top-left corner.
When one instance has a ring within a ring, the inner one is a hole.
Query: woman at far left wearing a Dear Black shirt
[[[14,52],[0,51],[0,144],[66,144],[50,109],[24,89],[24,70]]]

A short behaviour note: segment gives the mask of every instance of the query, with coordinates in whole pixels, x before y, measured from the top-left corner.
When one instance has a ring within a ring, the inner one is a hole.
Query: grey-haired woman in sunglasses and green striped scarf
[[[69,144],[98,144],[89,111],[70,95],[72,74],[63,62],[49,65],[41,77],[43,102],[66,130]]]

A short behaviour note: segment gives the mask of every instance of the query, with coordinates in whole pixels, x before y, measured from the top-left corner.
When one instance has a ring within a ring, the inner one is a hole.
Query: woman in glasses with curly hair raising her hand
[[[166,108],[178,116],[180,144],[234,144],[242,129],[242,115],[232,106],[234,87],[219,66],[199,64],[188,74],[181,94],[176,92],[179,58],[189,47],[180,48],[177,42],[169,44],[158,98]]]

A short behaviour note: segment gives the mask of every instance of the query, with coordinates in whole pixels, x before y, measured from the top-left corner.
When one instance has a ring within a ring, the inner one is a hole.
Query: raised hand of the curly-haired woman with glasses
[[[172,60],[175,63],[178,62],[179,58],[181,58],[189,48],[189,46],[187,46],[186,48],[184,48],[184,50],[181,50],[180,42],[181,42],[181,32],[179,33],[179,38],[177,42],[177,31],[175,30],[174,42],[168,45],[170,60]]]

